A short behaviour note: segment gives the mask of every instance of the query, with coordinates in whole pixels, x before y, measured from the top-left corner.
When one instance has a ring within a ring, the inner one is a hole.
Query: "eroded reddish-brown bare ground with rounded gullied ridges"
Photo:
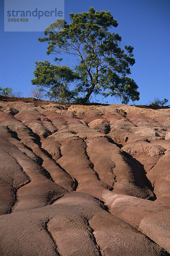
[[[170,109],[0,101],[0,255],[170,255]]]

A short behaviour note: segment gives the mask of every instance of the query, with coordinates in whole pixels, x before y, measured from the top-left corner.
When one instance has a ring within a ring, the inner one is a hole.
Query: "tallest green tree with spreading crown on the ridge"
[[[138,100],[138,86],[127,76],[135,63],[133,47],[121,49],[121,36],[108,32],[109,28],[118,26],[117,20],[109,11],[95,12],[93,7],[89,12],[75,15],[71,12],[69,16],[72,23],[57,19],[45,29],[46,37],[38,40],[49,44],[46,53],[56,54],[55,60],[60,60],[60,54],[78,57],[75,72],[81,81],[76,84],[76,90],[84,94],[80,100],[87,102],[92,93],[119,96],[122,103]]]

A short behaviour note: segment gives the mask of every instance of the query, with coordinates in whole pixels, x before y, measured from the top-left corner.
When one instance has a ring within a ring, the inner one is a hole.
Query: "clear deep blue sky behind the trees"
[[[87,12],[91,6],[97,11],[109,10],[119,24],[114,32],[121,35],[123,44],[134,47],[131,77],[140,91],[135,104],[144,105],[159,97],[169,99],[170,105],[170,0],[65,0],[65,20],[69,23],[70,12]],[[46,55],[46,44],[37,40],[43,32],[4,32],[3,0],[0,20],[0,86],[13,87],[27,97],[34,62],[47,59],[55,63],[55,56]],[[68,56],[65,60],[72,61]],[[108,100],[109,104],[113,101]]]

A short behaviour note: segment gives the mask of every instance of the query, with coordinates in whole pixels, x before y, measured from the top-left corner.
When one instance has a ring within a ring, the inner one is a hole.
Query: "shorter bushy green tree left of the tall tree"
[[[57,66],[49,61],[35,61],[35,79],[32,84],[39,91],[45,91],[46,97],[57,102],[70,102],[77,95],[76,90],[69,90],[68,84],[78,79],[77,73],[67,66]]]

